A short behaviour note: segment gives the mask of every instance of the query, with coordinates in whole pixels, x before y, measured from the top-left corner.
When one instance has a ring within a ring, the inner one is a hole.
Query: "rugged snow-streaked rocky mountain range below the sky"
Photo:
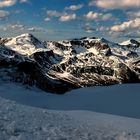
[[[104,38],[40,41],[31,34],[0,38],[0,80],[54,93],[140,82],[140,42]]]

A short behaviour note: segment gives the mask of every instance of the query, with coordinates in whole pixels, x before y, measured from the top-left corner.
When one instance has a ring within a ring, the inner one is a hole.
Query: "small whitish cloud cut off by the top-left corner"
[[[1,0],[0,1],[0,8],[2,7],[9,7],[15,5],[17,0]]]

